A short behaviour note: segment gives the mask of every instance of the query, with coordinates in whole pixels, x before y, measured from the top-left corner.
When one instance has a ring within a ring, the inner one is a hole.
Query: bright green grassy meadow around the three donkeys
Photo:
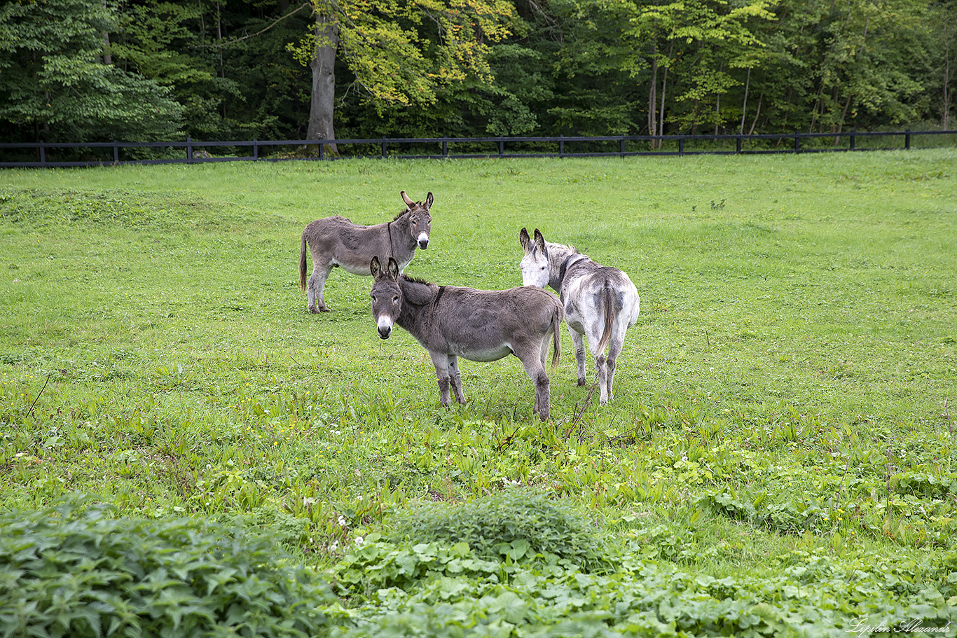
[[[527,227],[631,276],[608,407],[576,386],[565,327],[542,424],[515,358],[462,362],[468,403],[441,407],[425,350],[378,338],[370,278],[334,270],[333,312],[306,311],[303,226],[388,221],[403,189],[434,193],[408,275],[521,285]],[[589,600],[646,583],[685,605],[642,607],[659,633],[591,610],[594,635],[719,635],[744,599],[753,635],[957,631],[952,149],[7,170],[0,247],[0,511],[84,493],[252,528],[343,583],[356,635],[406,635],[395,618],[423,608],[432,635],[577,635],[545,613],[557,576],[509,571],[514,543],[494,583],[451,559],[382,576],[396,552],[426,561],[396,521],[518,489],[606,543],[618,567]]]

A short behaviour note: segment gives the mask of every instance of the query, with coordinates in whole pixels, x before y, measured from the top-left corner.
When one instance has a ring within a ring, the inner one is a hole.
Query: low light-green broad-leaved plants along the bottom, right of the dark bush
[[[637,558],[642,549],[609,557],[617,571],[597,575],[482,561],[465,543],[371,540],[334,569],[347,587],[367,585],[347,589],[358,609],[345,635],[838,636],[880,624],[946,632],[957,622],[953,557],[835,567],[794,552],[775,561],[776,577],[717,579]]]

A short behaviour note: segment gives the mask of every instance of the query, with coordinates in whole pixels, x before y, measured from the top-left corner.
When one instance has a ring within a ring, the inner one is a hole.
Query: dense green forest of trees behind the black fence
[[[955,0],[13,0],[0,142],[949,129]]]

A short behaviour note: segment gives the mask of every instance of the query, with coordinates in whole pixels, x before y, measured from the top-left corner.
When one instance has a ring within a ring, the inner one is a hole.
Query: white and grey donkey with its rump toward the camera
[[[599,403],[606,405],[612,398],[614,362],[625,341],[625,331],[638,319],[639,299],[634,283],[623,272],[591,261],[572,246],[546,243],[538,229],[534,241],[522,229],[519,241],[525,252],[520,264],[523,283],[542,288],[548,284],[565,303],[568,332],[575,342],[578,385],[585,385],[582,335],[588,335],[601,387]]]

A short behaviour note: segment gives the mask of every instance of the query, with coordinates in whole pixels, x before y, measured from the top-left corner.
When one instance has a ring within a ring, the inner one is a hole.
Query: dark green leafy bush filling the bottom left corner
[[[6,636],[314,636],[334,600],[268,539],[73,499],[0,515]]]

